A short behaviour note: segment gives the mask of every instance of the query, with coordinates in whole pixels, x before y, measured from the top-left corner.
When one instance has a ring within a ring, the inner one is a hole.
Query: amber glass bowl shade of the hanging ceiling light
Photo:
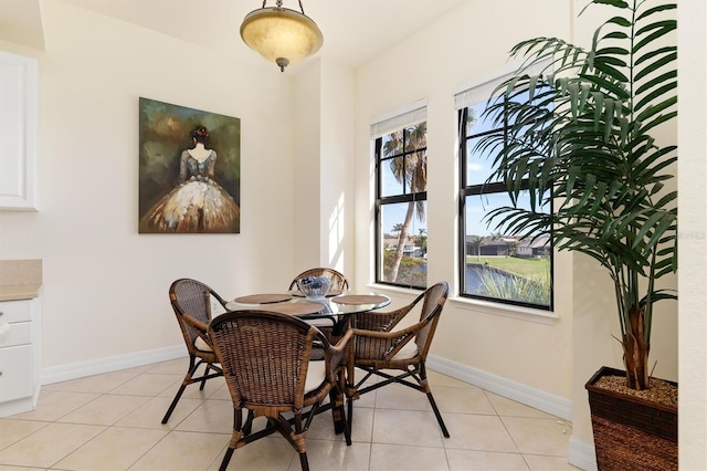
[[[309,17],[303,12],[281,7],[251,11],[241,24],[241,38],[268,62],[275,62],[281,71],[314,54],[321,48],[324,36]],[[299,3],[302,7],[302,2]]]

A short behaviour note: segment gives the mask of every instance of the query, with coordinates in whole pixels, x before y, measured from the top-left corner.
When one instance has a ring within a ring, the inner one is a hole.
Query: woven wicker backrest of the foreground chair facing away
[[[233,404],[268,416],[303,407],[313,342],[329,345],[304,321],[266,311],[229,312],[208,332]]]

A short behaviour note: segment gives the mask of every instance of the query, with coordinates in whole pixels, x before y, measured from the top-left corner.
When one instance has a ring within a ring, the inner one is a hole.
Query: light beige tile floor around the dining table
[[[160,420],[187,359],[42,387],[36,410],[0,419],[0,471],[218,470],[231,437],[222,378],[189,386],[167,425]],[[451,438],[423,394],[400,385],[355,402],[350,447],[329,412],[307,433],[313,470],[576,470],[567,463],[571,425],[430,371]],[[299,470],[277,435],[235,450],[230,470]]]

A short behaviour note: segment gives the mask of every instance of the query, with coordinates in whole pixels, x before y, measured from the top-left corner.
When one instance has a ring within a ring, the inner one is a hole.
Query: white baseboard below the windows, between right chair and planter
[[[561,396],[434,355],[428,356],[428,367],[561,419],[572,420],[572,401]]]

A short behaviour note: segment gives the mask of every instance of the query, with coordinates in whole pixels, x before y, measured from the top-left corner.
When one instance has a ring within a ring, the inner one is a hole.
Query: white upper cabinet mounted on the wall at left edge
[[[0,51],[0,210],[36,209],[36,61]]]

